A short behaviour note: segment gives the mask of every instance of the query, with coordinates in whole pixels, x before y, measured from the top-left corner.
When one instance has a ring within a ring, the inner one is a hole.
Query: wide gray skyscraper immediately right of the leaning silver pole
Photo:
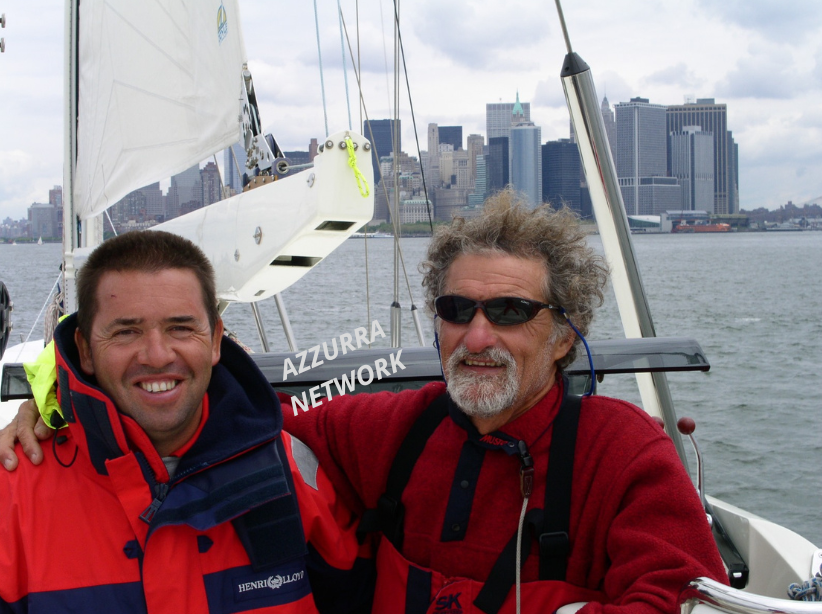
[[[676,209],[680,190],[668,174],[668,132],[665,106],[647,98],[616,105],[616,167],[622,199],[629,215]]]

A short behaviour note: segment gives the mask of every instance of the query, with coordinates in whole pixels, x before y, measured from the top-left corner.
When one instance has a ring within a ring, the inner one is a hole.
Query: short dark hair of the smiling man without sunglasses
[[[88,338],[97,315],[97,288],[110,271],[157,273],[166,269],[191,271],[200,282],[211,331],[217,325],[214,268],[203,251],[188,239],[161,230],[135,231],[105,241],[77,274],[77,326]]]

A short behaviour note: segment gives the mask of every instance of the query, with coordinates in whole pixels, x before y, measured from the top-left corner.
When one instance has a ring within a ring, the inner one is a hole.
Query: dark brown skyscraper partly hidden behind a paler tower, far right
[[[727,105],[717,104],[713,98],[698,98],[696,102],[668,107],[666,119],[668,133],[699,126],[714,135],[713,213],[739,213],[738,152],[728,131]]]

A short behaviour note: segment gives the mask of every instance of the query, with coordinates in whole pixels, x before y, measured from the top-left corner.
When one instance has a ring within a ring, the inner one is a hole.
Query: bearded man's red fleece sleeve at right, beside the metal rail
[[[670,439],[644,414],[639,424],[630,421],[630,430],[622,424],[603,433],[607,446],[593,446],[601,456],[593,454],[599,459],[578,529],[592,535],[577,540],[591,540],[589,551],[605,553],[587,569],[586,582],[599,580],[608,604],[589,604],[584,614],[675,612],[693,578],[727,583],[702,504]]]

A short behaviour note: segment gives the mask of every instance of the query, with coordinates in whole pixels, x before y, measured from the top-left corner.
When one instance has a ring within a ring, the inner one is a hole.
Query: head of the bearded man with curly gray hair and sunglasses
[[[451,398],[471,416],[502,414],[506,422],[529,409],[574,361],[580,339],[568,322],[588,334],[608,274],[573,213],[547,205],[531,210],[510,189],[490,199],[483,215],[439,228],[421,268],[428,308],[438,316]],[[475,318],[479,304],[461,296],[463,287],[495,297],[497,309],[518,318],[495,322],[488,304],[480,307],[485,317]],[[500,297],[526,302],[500,303]],[[483,329],[511,343],[485,346]],[[462,341],[456,347],[454,333]]]

